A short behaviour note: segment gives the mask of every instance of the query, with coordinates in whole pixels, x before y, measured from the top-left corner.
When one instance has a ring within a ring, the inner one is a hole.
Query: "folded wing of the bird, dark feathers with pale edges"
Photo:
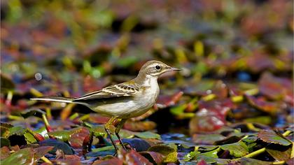
[[[118,85],[111,85],[105,87],[99,91],[91,92],[80,96],[79,98],[73,99],[73,101],[85,101],[90,99],[106,99],[111,97],[119,96],[133,96],[139,92],[140,87],[136,84],[121,83]]]

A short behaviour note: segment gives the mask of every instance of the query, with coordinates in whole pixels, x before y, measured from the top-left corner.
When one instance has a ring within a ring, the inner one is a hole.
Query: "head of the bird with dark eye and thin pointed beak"
[[[167,64],[159,61],[149,61],[146,62],[140,69],[139,74],[144,74],[146,76],[155,76],[158,77],[162,73],[168,72],[168,71],[181,71],[181,69],[176,69],[171,66],[168,66]]]

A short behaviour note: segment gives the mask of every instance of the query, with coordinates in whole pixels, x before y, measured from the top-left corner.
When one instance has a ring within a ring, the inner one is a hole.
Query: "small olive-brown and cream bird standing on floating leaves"
[[[158,77],[169,71],[181,71],[163,62],[151,60],[146,62],[140,69],[136,78],[116,85],[110,85],[96,92],[90,92],[78,98],[66,98],[59,96],[41,96],[32,98],[37,101],[57,101],[63,103],[77,103],[87,106],[94,112],[110,117],[104,124],[113,147],[118,152],[118,146],[111,138],[109,131],[116,120],[120,120],[115,129],[115,134],[124,150],[125,145],[118,134],[125,122],[146,113],[157,101],[160,93]]]

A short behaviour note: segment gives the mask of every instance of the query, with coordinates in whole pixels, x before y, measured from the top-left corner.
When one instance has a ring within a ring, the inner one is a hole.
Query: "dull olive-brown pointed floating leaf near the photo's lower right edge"
[[[261,130],[258,132],[258,138],[267,143],[275,143],[279,145],[291,145],[292,143],[272,130]]]

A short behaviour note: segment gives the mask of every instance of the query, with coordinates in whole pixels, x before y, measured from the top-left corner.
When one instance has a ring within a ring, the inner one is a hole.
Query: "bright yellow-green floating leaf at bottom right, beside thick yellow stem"
[[[242,141],[239,141],[237,143],[221,145],[221,149],[222,150],[229,150],[230,155],[232,155],[234,157],[243,157],[244,155],[248,154],[248,147]]]

